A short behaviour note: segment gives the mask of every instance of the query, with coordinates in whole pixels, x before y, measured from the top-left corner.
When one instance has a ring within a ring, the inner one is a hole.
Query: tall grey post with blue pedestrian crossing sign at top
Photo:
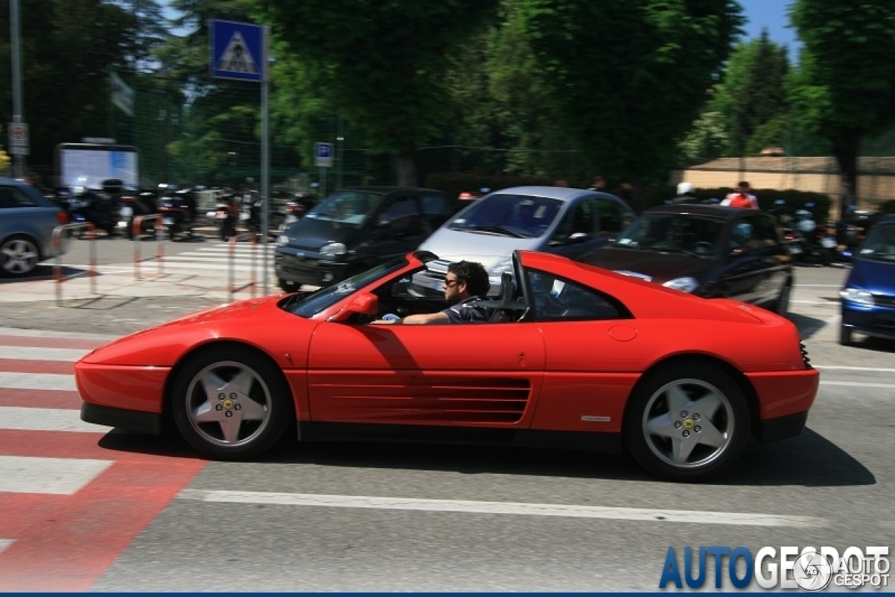
[[[268,213],[270,212],[270,131],[268,126],[268,37],[270,28],[211,20],[211,75],[261,84],[261,267],[262,292],[268,293]]]

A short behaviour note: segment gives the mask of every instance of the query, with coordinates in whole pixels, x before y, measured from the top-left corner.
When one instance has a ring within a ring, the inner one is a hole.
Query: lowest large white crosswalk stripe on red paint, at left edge
[[[0,491],[71,496],[112,463],[88,458],[0,456]]]

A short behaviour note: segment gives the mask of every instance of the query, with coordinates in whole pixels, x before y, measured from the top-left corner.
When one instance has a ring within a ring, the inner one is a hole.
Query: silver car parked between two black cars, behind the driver
[[[573,259],[606,244],[634,220],[630,206],[616,195],[565,186],[514,186],[485,195],[448,219],[419,250],[438,255],[414,279],[425,290],[441,292],[447,264],[477,261],[500,288],[500,274],[513,271],[516,249],[533,249]]]

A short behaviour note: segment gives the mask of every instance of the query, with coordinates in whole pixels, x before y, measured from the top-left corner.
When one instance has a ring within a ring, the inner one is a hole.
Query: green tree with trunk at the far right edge
[[[844,212],[857,202],[861,143],[895,124],[895,0],[796,0],[789,15],[804,43],[793,101],[809,132],[831,143]]]

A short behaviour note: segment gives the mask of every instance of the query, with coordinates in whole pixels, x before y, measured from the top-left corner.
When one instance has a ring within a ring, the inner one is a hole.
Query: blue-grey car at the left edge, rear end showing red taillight
[[[34,186],[0,177],[0,276],[26,276],[68,249],[68,235],[54,247],[53,230],[66,213]]]

